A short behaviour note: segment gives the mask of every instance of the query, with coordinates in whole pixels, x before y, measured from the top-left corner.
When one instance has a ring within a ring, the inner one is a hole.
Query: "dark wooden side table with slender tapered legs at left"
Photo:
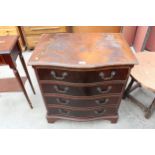
[[[17,36],[4,36],[4,37],[0,37],[0,65],[9,65],[9,67],[13,70],[13,73],[29,103],[30,108],[32,109],[32,103],[28,97],[28,94],[26,92],[26,89],[24,87],[24,83],[22,81],[22,78],[20,77],[20,74],[17,70],[17,66],[16,66],[16,59],[19,56],[20,60],[21,60],[21,64],[24,68],[24,71],[26,73],[27,79],[30,83],[30,86],[32,88],[33,93],[35,94],[35,90],[34,87],[32,85],[22,52],[20,50],[19,47],[19,43],[18,43],[18,37]],[[2,46],[1,46],[2,45]]]

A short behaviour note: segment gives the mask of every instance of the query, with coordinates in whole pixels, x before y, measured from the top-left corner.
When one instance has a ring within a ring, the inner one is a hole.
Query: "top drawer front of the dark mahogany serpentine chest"
[[[40,80],[58,80],[73,83],[92,83],[111,80],[125,80],[128,68],[103,69],[100,71],[68,71],[56,69],[38,69]]]

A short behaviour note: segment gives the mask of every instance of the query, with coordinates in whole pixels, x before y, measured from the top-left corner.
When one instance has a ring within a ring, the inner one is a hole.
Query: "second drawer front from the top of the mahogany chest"
[[[60,84],[42,84],[44,93],[66,94],[74,96],[92,96],[121,93],[124,84],[102,84],[91,87],[74,87]]]

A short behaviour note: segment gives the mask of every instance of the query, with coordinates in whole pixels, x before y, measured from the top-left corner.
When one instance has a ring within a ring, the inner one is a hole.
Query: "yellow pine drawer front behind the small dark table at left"
[[[17,35],[17,29],[14,26],[0,26],[0,36]]]

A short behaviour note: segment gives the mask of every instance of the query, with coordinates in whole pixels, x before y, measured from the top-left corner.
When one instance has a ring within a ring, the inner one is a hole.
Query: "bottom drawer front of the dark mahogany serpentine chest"
[[[95,118],[95,117],[102,117],[108,115],[115,115],[117,114],[117,109],[112,107],[106,107],[101,109],[95,110],[87,110],[87,111],[80,111],[80,110],[69,110],[69,109],[62,109],[62,108],[51,108],[48,110],[48,115],[58,115],[58,116],[66,116],[66,117],[81,117],[81,118]]]

